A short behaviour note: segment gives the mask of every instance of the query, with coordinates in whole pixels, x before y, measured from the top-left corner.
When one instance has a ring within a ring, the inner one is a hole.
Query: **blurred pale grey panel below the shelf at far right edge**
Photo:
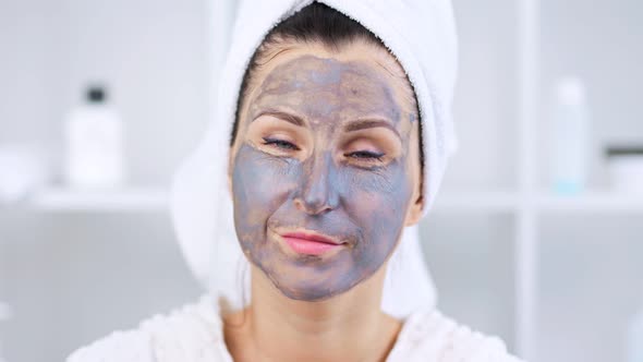
[[[627,324],[643,307],[641,219],[544,216],[538,361],[626,362]]]

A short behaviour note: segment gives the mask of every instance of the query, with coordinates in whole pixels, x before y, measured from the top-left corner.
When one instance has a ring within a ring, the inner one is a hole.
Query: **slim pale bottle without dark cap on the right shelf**
[[[585,87],[577,77],[556,85],[551,120],[551,186],[560,195],[581,193],[587,183],[590,116]]]

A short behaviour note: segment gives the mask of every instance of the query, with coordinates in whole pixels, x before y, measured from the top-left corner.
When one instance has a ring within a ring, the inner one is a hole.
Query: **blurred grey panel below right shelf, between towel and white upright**
[[[438,307],[459,323],[500,336],[513,350],[514,268],[510,215],[429,215],[423,250],[438,289]]]

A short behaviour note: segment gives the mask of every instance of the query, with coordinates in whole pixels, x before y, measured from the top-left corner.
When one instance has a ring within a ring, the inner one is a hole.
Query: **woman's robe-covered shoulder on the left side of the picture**
[[[68,362],[220,361],[225,352],[218,305],[209,295],[77,349]]]

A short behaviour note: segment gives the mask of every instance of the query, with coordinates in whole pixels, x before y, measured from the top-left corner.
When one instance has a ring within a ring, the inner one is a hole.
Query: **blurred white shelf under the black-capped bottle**
[[[44,212],[137,212],[167,210],[169,191],[163,188],[128,188],[83,191],[64,188],[44,189],[28,207]]]

